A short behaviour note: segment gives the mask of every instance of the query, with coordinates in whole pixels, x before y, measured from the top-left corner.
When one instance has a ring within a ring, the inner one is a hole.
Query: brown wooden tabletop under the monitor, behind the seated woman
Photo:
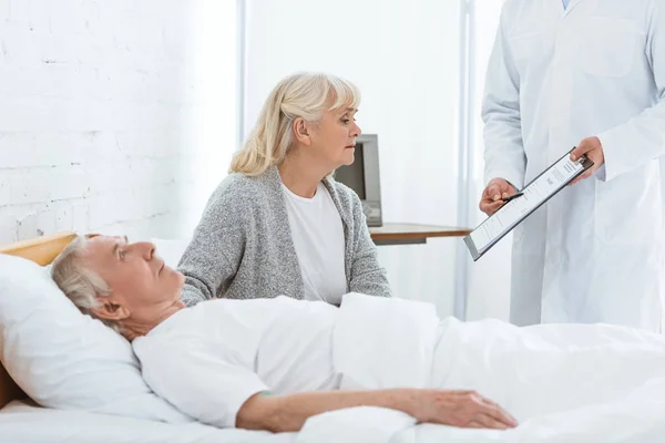
[[[375,245],[418,245],[429,237],[464,237],[472,229],[452,226],[418,225],[412,223],[385,223],[369,228]]]

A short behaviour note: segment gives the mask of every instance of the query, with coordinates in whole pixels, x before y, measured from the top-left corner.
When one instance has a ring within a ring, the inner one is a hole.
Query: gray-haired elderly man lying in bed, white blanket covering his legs
[[[369,405],[509,429],[513,416],[621,399],[665,375],[663,338],[608,326],[463,323],[428,303],[357,293],[340,308],[287,297],[185,308],[183,276],[152,244],[122,237],[78,238],[53,278],[132,341],[157,395],[221,427],[296,431],[313,415]]]

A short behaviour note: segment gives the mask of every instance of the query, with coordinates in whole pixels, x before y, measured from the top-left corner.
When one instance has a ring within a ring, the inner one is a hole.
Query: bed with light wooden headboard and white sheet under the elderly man
[[[73,233],[62,233],[20,241],[0,247],[0,254],[23,257],[43,267],[49,265],[74,237]],[[1,272],[2,269],[0,269]],[[0,285],[0,297],[7,296],[7,293],[2,293]],[[3,324],[0,324],[0,332],[2,332],[2,328]],[[0,342],[0,344],[2,343]],[[608,385],[607,389],[612,389],[612,387]],[[632,394],[621,404],[590,405],[577,411],[548,415],[522,423],[515,432],[416,424],[412,418],[398,411],[357,408],[311,418],[300,433],[270,434],[233,429],[223,430],[197,422],[167,423],[75,409],[42,408],[25,395],[0,364],[0,443],[327,443],[346,441],[356,443],[442,441],[479,443],[533,441],[623,443],[636,441],[662,443],[665,442],[665,412],[663,411],[665,411],[665,380],[654,380],[648,387]],[[308,427],[310,422],[313,422],[311,426]],[[589,440],[590,437],[592,440]]]

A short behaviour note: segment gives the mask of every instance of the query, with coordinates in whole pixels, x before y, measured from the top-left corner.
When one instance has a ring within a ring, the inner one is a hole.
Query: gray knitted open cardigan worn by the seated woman
[[[323,183],[344,225],[347,291],[390,297],[360,199],[331,177]],[[304,298],[284,198],[276,167],[256,177],[231,174],[217,186],[178,265],[185,305],[213,297]]]

